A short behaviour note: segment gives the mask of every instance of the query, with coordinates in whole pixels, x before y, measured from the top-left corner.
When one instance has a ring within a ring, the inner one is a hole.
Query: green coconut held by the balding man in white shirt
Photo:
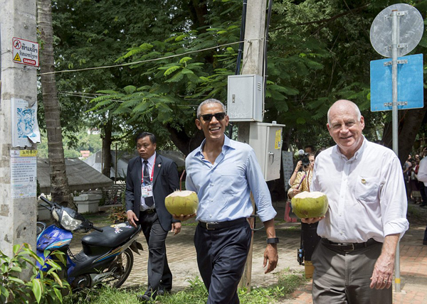
[[[292,197],[292,211],[300,219],[323,217],[327,212],[327,196],[322,192],[301,192]]]

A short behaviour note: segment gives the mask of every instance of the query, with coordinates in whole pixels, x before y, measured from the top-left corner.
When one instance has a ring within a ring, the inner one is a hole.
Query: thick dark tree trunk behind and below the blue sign
[[[421,127],[424,116],[426,115],[427,89],[424,89],[424,107],[423,109],[410,109],[399,111],[399,160],[403,165],[408,154],[412,151],[416,134]],[[383,134],[384,146],[392,148],[393,146],[393,129],[392,122],[384,126]]]

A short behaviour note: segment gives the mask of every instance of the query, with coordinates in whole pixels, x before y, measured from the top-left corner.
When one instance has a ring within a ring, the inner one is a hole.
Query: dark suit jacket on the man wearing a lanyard
[[[179,176],[176,164],[170,158],[156,153],[153,175],[153,196],[160,224],[165,231],[172,229],[172,222],[179,222],[164,206],[164,198],[175,190],[179,190]],[[133,210],[139,219],[141,207],[141,176],[142,161],[139,156],[132,158],[127,165],[126,175],[126,210]]]

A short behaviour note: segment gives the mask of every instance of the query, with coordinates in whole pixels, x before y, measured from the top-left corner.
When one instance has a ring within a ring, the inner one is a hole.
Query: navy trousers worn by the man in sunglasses
[[[237,287],[251,245],[248,222],[208,230],[196,227],[194,245],[201,278],[209,292],[207,304],[238,304]]]

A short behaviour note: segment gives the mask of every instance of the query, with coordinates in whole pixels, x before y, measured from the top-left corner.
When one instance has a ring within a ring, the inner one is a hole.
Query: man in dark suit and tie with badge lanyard
[[[172,289],[165,241],[169,230],[174,234],[181,231],[181,222],[172,219],[164,206],[164,198],[179,189],[179,176],[174,161],[156,153],[153,134],[139,134],[136,143],[139,156],[127,165],[126,210],[127,220],[135,227],[141,224],[147,239],[148,288],[138,299],[148,302]]]

